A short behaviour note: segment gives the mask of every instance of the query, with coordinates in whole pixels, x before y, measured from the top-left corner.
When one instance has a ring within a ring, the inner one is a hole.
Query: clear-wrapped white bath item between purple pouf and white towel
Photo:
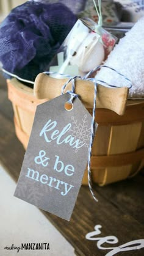
[[[69,71],[68,75],[75,71],[74,75],[84,75],[107,58],[116,40],[94,21],[88,18],[77,20],[59,49],[59,54],[63,53],[63,63],[59,65],[59,56],[55,56],[49,71]]]

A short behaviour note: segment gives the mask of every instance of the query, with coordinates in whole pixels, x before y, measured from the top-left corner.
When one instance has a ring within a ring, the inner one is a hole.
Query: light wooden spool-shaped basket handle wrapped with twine
[[[51,78],[43,73],[38,74],[34,84],[34,95],[38,99],[56,98],[61,95],[62,86],[68,79]],[[68,84],[64,92],[71,90]],[[118,115],[123,115],[128,98],[128,87],[109,88],[98,85],[96,108],[110,109]],[[91,81],[76,80],[75,92],[80,96],[85,108],[93,108],[94,84]]]

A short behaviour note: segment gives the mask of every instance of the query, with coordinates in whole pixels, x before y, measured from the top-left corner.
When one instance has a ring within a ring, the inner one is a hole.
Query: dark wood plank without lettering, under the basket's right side
[[[144,224],[144,176],[141,174],[110,186],[103,190],[97,186],[98,194],[113,203],[121,212],[131,215]]]

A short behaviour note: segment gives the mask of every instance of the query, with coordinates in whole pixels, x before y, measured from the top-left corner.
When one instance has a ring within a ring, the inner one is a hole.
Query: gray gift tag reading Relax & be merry
[[[92,116],[65,93],[37,106],[15,197],[70,220],[87,166]]]

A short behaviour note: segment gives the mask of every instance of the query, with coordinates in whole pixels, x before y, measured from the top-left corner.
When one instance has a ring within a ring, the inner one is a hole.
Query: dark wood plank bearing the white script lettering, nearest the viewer
[[[98,196],[98,199],[99,202],[96,204],[88,188],[82,187],[70,223],[46,213],[57,229],[63,235],[67,234],[67,240],[76,248],[79,255],[106,255],[104,251],[97,249],[95,241],[85,240],[85,235],[92,232],[96,224],[103,226],[99,236],[115,235],[119,240],[119,245],[143,237],[143,226],[134,221],[131,216],[121,213],[117,207],[104,200],[103,197]],[[143,255],[142,251],[133,251],[132,255]],[[125,255],[130,254],[127,252]]]

